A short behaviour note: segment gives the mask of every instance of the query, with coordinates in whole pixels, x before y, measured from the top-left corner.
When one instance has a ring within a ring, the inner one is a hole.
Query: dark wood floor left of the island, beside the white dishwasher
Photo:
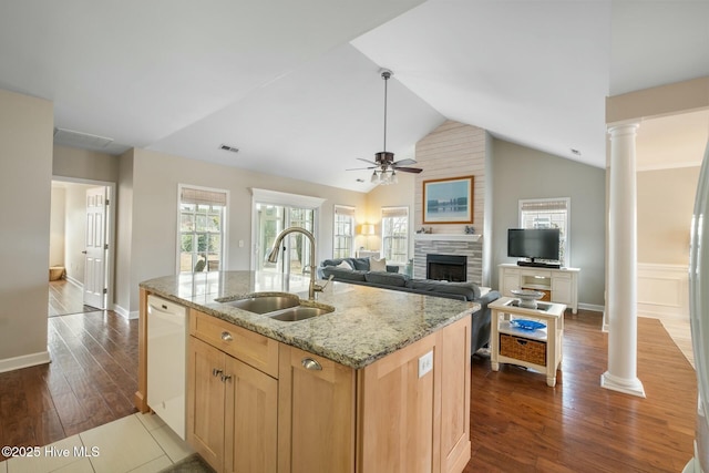
[[[52,317],[48,349],[51,363],[0,373],[0,445],[47,445],[136,411],[137,320]]]

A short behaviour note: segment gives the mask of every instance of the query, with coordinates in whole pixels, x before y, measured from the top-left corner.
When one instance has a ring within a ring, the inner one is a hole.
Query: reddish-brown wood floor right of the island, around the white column
[[[600,388],[598,312],[565,318],[564,362],[545,376],[473,357],[472,460],[465,472],[681,472],[693,453],[696,373],[661,323],[638,319],[647,399]]]

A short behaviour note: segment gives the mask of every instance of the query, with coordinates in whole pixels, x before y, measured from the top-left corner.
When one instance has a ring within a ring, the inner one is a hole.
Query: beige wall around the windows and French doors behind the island
[[[186,160],[146,150],[120,158],[119,241],[115,302],[137,310],[138,282],[175,274],[177,186],[191,184],[229,191],[228,259],[230,270],[248,269],[251,257],[251,188],[325,198],[317,260],[332,254],[333,205],[364,207],[361,193]],[[237,245],[244,240],[244,247]]]

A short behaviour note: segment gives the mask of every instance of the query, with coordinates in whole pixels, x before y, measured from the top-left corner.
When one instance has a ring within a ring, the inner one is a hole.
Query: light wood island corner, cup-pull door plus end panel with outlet
[[[461,472],[470,330],[462,319],[361,370],[281,345],[279,471]]]

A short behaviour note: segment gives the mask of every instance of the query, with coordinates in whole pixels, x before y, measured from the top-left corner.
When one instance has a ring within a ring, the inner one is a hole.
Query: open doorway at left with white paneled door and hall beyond
[[[106,200],[103,216],[96,194]],[[52,179],[48,317],[110,309],[113,195],[113,183]]]

